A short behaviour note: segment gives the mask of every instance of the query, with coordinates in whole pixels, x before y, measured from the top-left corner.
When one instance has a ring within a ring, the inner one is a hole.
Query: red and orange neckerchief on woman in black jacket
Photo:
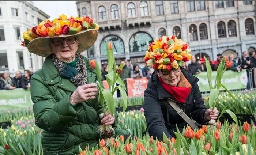
[[[166,84],[161,77],[158,77],[158,79],[160,80],[163,88],[167,92],[169,92],[169,94],[171,94],[176,99],[176,101],[180,103],[186,102],[186,99],[190,93],[192,86],[182,73],[180,81],[178,82],[176,87]]]

